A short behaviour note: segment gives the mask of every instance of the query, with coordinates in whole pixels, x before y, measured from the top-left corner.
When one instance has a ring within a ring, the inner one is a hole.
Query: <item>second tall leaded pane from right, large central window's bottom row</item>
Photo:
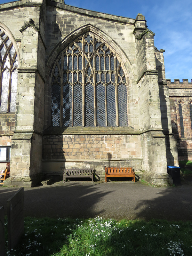
[[[107,86],[107,125],[116,126],[115,86]]]

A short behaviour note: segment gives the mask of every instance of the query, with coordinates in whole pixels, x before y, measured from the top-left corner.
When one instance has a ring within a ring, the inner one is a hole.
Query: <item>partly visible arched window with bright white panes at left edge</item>
[[[0,113],[15,112],[18,74],[17,52],[0,29]]]

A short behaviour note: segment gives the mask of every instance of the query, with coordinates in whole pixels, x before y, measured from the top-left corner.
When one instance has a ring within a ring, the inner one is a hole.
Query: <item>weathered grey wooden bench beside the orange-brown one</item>
[[[94,171],[90,169],[65,169],[63,172],[63,182],[68,180],[68,178],[91,178],[93,182]]]

